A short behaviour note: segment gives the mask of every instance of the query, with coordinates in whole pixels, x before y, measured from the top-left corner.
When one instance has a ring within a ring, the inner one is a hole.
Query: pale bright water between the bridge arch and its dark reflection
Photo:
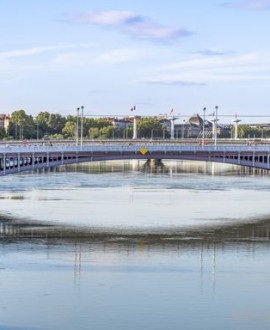
[[[270,214],[270,178],[222,164],[69,166],[1,178],[2,215],[114,229],[161,229]],[[11,191],[10,191],[11,190]]]

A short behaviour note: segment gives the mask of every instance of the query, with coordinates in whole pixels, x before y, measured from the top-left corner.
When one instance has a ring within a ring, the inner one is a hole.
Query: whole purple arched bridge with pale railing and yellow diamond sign
[[[96,143],[86,146],[0,147],[0,175],[82,162],[179,159],[270,169],[270,145],[192,146],[171,143]]]

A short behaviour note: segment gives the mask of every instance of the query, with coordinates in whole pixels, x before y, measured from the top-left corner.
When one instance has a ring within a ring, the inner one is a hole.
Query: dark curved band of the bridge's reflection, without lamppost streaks
[[[40,241],[46,244],[117,244],[139,247],[198,246],[215,243],[217,246],[270,244],[270,219],[228,225],[190,228],[143,230],[90,229],[73,226],[48,225],[36,221],[0,219],[0,240],[5,242]]]

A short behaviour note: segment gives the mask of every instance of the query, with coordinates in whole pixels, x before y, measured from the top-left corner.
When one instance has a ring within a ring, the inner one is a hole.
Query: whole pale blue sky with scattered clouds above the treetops
[[[270,116],[269,18],[270,0],[2,0],[0,113]]]

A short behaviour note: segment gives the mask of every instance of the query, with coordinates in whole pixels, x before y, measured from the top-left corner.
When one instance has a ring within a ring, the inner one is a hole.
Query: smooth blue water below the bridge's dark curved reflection
[[[2,246],[0,329],[267,330],[268,255],[267,245]]]

